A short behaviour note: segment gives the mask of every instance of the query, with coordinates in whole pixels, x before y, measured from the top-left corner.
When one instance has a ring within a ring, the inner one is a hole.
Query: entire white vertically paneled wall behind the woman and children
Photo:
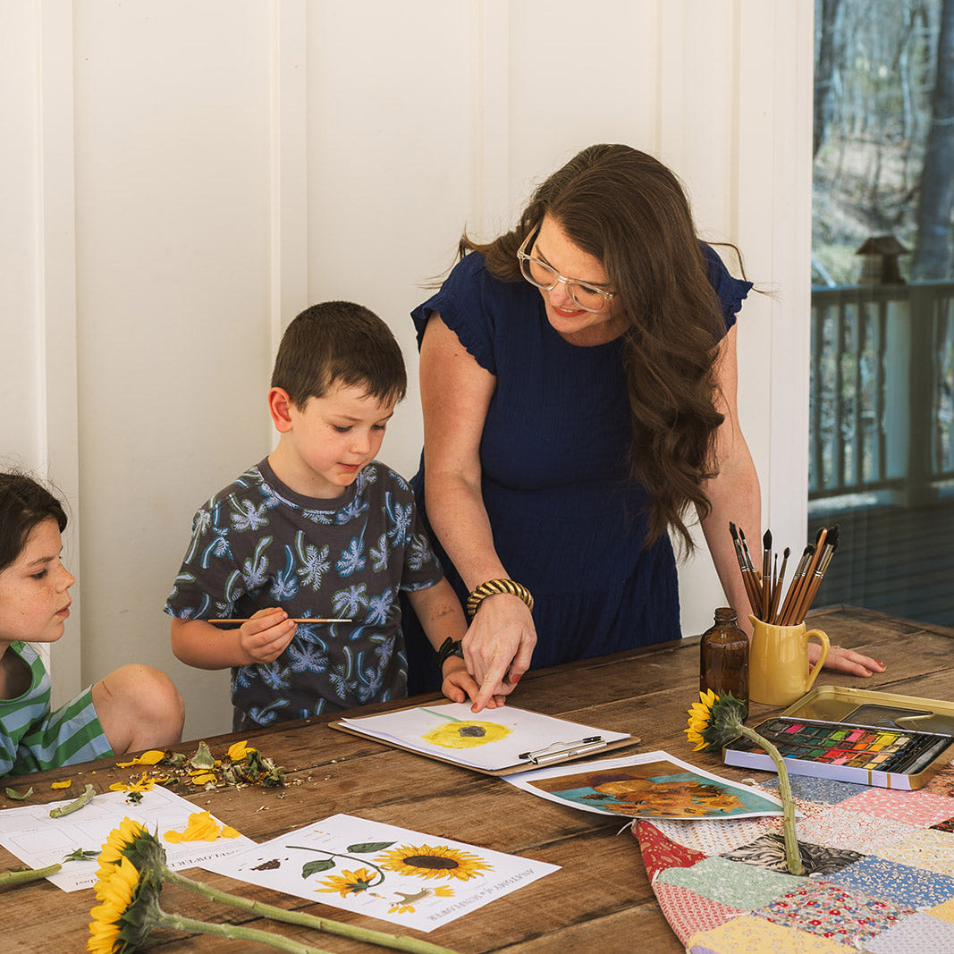
[[[281,329],[362,301],[416,383],[407,313],[462,228],[508,227],[596,141],[669,163],[778,292],[742,312],[740,404],[797,548],[811,21],[810,0],[0,0],[0,458],[73,506],[57,695],[141,660],[187,736],[228,728],[227,674],[178,663],[160,608],[194,510],[272,446]],[[384,460],[412,473],[421,436],[414,386]],[[721,602],[704,550],[682,577],[697,633]]]

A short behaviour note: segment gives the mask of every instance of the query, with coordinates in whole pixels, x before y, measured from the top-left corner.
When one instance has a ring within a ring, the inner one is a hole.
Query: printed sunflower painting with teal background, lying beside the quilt
[[[782,812],[778,798],[666,752],[537,769],[505,780],[539,798],[617,818],[748,819]]]

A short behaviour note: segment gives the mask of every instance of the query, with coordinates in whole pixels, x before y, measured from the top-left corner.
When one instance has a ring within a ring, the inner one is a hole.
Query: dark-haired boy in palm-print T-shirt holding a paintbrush
[[[401,590],[446,644],[445,695],[477,695],[447,654],[467,624],[410,488],[374,461],[406,386],[398,343],[361,305],[313,305],[282,336],[268,392],[279,444],[198,510],[165,606],[179,659],[231,667],[234,731],[407,695]],[[307,617],[345,621],[295,622]]]

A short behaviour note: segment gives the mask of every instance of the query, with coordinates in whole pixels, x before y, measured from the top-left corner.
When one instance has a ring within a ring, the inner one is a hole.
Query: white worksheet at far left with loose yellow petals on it
[[[98,855],[106,839],[122,819],[133,819],[149,831],[157,833],[166,850],[169,868],[195,868],[205,861],[223,858],[255,842],[243,835],[237,838],[218,838],[215,841],[166,840],[169,831],[184,831],[189,816],[201,811],[185,798],[180,798],[161,786],[142,793],[138,804],[127,801],[125,792],[106,792],[97,795],[79,811],[59,819],[50,817],[50,810],[67,801],[53,801],[45,805],[23,805],[0,811],[0,844],[31,868],[45,868],[61,863],[63,867],[48,881],[64,891],[92,888],[99,868],[95,856],[83,861],[64,861],[73,852],[92,852]],[[219,819],[213,819],[222,827]]]

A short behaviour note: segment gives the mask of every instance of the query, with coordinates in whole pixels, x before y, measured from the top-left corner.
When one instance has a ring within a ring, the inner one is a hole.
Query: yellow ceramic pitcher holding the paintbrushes
[[[749,698],[773,706],[787,706],[812,688],[828,657],[828,636],[820,630],[798,626],[773,626],[755,616],[749,653]],[[808,640],[821,643],[818,663],[808,671]]]

